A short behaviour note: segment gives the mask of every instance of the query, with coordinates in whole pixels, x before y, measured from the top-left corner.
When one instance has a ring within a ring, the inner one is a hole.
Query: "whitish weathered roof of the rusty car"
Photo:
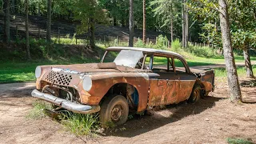
[[[112,46],[107,48],[106,50],[138,50],[146,53],[151,53],[151,54],[156,54],[159,56],[175,56],[178,58],[184,58],[182,57],[181,54],[175,53],[173,51],[167,51],[167,50],[156,50],[156,49],[151,49],[151,48],[141,48],[141,47],[124,47],[124,46]]]

